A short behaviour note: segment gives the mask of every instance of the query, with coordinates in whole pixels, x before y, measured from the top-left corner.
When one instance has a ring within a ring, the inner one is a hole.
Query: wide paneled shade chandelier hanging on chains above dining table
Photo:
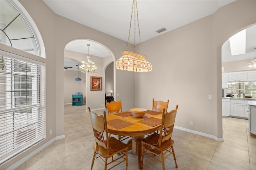
[[[134,72],[152,71],[152,64],[146,60],[147,56],[136,53],[136,43],[135,43],[136,15],[137,15],[139,38],[140,38],[140,26],[139,26],[139,20],[138,20],[139,18],[138,18],[137,0],[132,0],[132,14],[133,14],[133,8],[134,8],[134,52],[128,51],[131,24],[132,24],[132,15],[131,15],[127,49],[126,51],[122,51],[122,57],[116,60],[116,69],[134,71]],[[140,42],[140,52],[142,53],[141,42]]]

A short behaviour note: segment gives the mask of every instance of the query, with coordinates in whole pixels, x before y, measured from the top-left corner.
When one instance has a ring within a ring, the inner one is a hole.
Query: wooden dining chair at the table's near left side
[[[94,132],[94,138],[96,142],[96,144],[94,144],[93,146],[94,154],[92,158],[91,170],[92,170],[95,159],[102,166],[104,166],[105,170],[107,169],[107,166],[109,164],[112,164],[115,162],[115,164],[109,168],[111,169],[125,161],[126,170],[127,170],[128,145],[124,144],[123,142],[121,142],[120,140],[117,140],[114,137],[108,136],[108,127],[107,127],[105,111],[103,113],[104,115],[98,115],[97,113],[92,113],[90,107],[88,107],[88,109],[89,109],[90,119],[92,123],[92,130]],[[111,158],[110,162],[108,162],[108,158]],[[104,162],[104,164],[102,162]]]

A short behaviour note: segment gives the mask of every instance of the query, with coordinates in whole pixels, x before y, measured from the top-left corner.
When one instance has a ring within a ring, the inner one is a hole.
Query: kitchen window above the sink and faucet
[[[244,97],[241,92],[244,92],[245,96],[256,97],[256,82],[228,83],[227,94],[233,94],[234,97]]]

